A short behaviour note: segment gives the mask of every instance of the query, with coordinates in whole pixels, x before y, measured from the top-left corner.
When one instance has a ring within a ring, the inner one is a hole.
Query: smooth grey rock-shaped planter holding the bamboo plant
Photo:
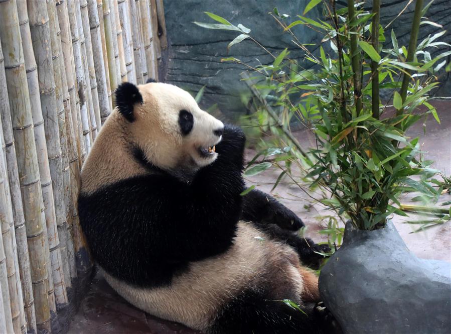
[[[451,265],[415,257],[391,222],[376,231],[348,223],[320,293],[345,334],[451,332]]]

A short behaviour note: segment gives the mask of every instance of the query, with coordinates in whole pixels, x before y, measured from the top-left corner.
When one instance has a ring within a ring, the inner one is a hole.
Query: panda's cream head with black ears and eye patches
[[[124,82],[116,89],[125,140],[163,170],[193,170],[215,161],[223,123],[201,110],[187,91],[149,81]]]

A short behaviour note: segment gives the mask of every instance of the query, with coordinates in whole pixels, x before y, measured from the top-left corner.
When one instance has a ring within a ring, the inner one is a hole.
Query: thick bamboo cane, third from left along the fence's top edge
[[[50,37],[49,16],[47,4],[44,1],[27,2],[30,17],[30,30],[33,41],[33,51],[38,64],[39,91],[41,108],[44,118],[44,129],[51,179],[47,186],[53,189],[50,203],[46,203],[47,235],[50,251],[50,275],[53,278],[54,298],[57,304],[67,303],[66,286],[62,268],[60,241],[58,237],[57,220],[65,217],[63,193],[63,162],[61,157],[60,130],[58,125],[58,108],[54,68],[52,60],[52,43]],[[60,87],[59,87],[60,88]],[[44,182],[41,177],[41,182]],[[43,189],[44,192],[44,189]],[[50,191],[49,191],[50,192]],[[53,207],[52,207],[53,206]],[[50,212],[49,212],[50,211]],[[52,304],[50,304],[52,310]],[[56,312],[56,309],[54,310]]]

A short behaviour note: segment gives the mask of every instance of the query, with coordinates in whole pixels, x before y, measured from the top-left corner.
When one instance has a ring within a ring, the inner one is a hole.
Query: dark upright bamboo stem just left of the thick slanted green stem
[[[373,0],[373,19],[371,23],[371,43],[374,49],[379,52],[379,20],[380,20],[381,1]],[[379,64],[377,61],[371,61],[371,107],[373,117],[379,119]]]

